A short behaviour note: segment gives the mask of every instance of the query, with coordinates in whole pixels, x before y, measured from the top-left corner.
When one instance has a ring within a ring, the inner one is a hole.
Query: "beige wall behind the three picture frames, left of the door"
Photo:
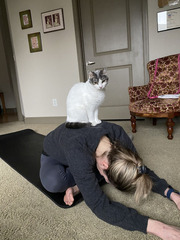
[[[6,0],[25,118],[66,115],[66,96],[79,81],[71,0]],[[43,33],[41,13],[63,8],[65,30]],[[30,9],[33,27],[21,29],[19,12]],[[30,53],[27,34],[41,32],[43,51]],[[52,99],[57,99],[54,107]]]

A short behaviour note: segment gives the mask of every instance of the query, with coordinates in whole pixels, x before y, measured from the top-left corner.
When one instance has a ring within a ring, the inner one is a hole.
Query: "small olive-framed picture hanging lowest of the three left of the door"
[[[31,53],[42,51],[40,32],[28,34],[29,50]]]

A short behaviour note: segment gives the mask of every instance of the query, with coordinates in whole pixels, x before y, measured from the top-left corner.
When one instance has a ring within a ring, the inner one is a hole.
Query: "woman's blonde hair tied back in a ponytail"
[[[152,189],[152,180],[146,174],[146,167],[138,154],[114,143],[108,160],[109,167],[106,173],[116,188],[121,191],[135,191],[137,203],[147,198]]]

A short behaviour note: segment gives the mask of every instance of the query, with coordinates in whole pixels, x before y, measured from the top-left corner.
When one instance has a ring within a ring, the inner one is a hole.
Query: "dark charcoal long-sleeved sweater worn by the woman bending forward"
[[[127,230],[146,233],[148,217],[133,208],[109,200],[98,184],[94,171],[94,153],[100,139],[105,135],[112,141],[120,141],[133,152],[136,151],[123,128],[109,122],[81,129],[68,129],[62,124],[45,137],[44,151],[60,164],[70,167],[84,201],[97,217]],[[168,187],[167,182],[149,169],[148,174],[154,182],[153,191],[163,195]]]

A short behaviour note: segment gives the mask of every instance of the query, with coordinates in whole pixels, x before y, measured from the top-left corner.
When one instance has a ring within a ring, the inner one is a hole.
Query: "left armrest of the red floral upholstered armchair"
[[[136,101],[147,98],[148,91],[149,91],[149,85],[129,87],[128,92],[129,92],[130,102],[136,102]]]

